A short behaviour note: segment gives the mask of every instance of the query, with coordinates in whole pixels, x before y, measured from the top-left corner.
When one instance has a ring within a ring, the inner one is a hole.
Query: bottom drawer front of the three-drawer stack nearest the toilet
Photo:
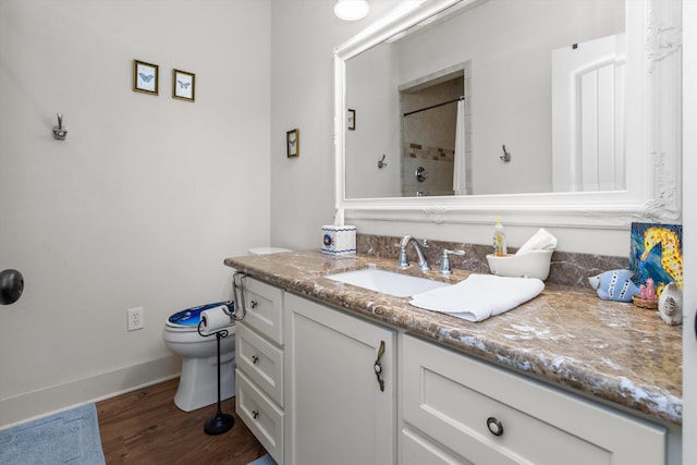
[[[241,370],[236,370],[235,411],[252,433],[273,457],[283,464],[283,412]]]

